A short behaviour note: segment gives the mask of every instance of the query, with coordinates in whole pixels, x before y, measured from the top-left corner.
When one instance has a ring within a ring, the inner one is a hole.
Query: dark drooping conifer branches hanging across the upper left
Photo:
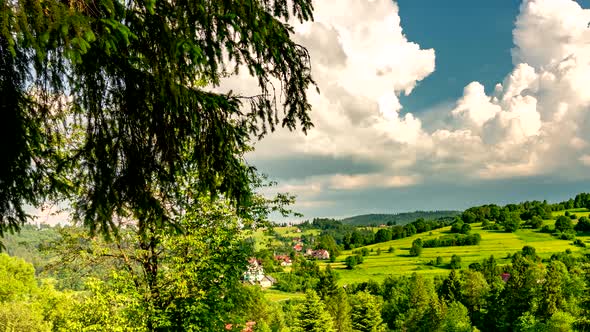
[[[287,23],[311,20],[311,0],[15,0],[0,17],[0,235],[25,204],[73,197],[91,232],[165,228],[189,174],[193,193],[248,206],[250,137],[312,126]],[[205,87],[238,71],[259,93]]]

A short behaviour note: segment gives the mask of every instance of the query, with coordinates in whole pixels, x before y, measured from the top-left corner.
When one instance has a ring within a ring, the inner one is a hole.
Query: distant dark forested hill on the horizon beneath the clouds
[[[419,218],[427,220],[454,217],[461,214],[461,211],[414,211],[396,214],[363,214],[342,219],[343,224],[355,226],[368,225],[405,225]]]

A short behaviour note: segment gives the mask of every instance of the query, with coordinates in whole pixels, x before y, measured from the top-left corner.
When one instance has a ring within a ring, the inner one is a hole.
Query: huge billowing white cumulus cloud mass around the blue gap
[[[297,181],[321,190],[306,199],[431,181],[589,178],[590,10],[572,0],[523,1],[512,71],[491,94],[472,82],[458,100],[421,118],[402,114],[399,96],[435,70],[435,52],[406,38],[397,5],[324,0],[315,6],[316,22],[295,27],[321,89],[309,92],[315,128],[307,136],[279,131],[257,144],[252,159],[312,156],[377,166],[309,167]]]

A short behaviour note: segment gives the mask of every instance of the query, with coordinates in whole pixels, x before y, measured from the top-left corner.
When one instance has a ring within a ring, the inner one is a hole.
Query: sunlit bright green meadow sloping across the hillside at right
[[[575,212],[578,217],[588,216],[587,210],[570,210]],[[555,215],[562,215],[565,211],[556,212]],[[551,225],[554,221],[545,221],[544,224]],[[472,233],[481,235],[481,242],[477,246],[463,247],[440,247],[424,248],[420,257],[411,257],[409,249],[412,241],[417,238],[423,240],[448,235],[449,227],[434,230],[430,233],[422,233],[400,240],[393,240],[384,243],[369,245],[367,248],[373,249],[369,256],[365,257],[364,263],[358,265],[354,270],[347,270],[344,265],[344,259],[351,255],[351,251],[344,251],[335,263],[334,268],[340,275],[341,284],[350,284],[355,282],[367,281],[369,279],[382,281],[388,275],[403,275],[411,273],[420,273],[428,275],[447,274],[450,270],[446,267],[436,267],[428,265],[430,261],[436,261],[441,256],[445,265],[449,263],[451,256],[456,254],[461,256],[463,267],[467,267],[473,262],[481,262],[490,255],[499,261],[500,264],[508,263],[508,254],[519,251],[525,245],[536,248],[537,254],[543,258],[550,257],[556,252],[563,252],[566,249],[580,251],[582,248],[574,246],[572,241],[559,240],[551,234],[540,233],[537,230],[521,229],[515,233],[506,233],[503,231],[482,230],[481,224],[472,225]],[[589,242],[590,236],[578,236],[584,242]],[[395,252],[388,253],[389,247],[393,247]],[[377,248],[381,248],[381,255],[377,255]],[[326,265],[327,263],[322,263]]]

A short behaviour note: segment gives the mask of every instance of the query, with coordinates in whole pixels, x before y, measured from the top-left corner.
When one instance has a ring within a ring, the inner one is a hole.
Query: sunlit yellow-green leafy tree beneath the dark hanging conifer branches
[[[80,309],[83,325],[219,331],[228,321],[246,320],[252,297],[241,282],[251,254],[240,229],[244,221],[230,205],[203,198],[177,221],[179,234],[156,228],[146,234],[129,225],[112,242],[78,233],[77,240],[56,246],[63,257],[85,252],[76,257],[113,267],[108,279],[90,285]],[[154,251],[146,241],[156,242]],[[101,304],[105,310],[92,309]]]

